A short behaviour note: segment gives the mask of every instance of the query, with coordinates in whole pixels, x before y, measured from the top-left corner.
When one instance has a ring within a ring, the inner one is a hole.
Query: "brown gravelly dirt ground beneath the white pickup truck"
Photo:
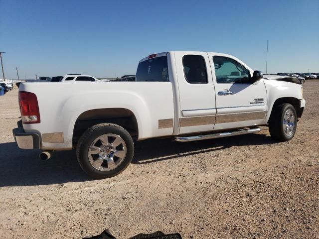
[[[17,88],[0,97],[0,238],[76,238],[109,229],[198,238],[319,238],[319,80],[293,140],[257,134],[138,142],[120,175],[91,180],[75,152],[18,149]]]

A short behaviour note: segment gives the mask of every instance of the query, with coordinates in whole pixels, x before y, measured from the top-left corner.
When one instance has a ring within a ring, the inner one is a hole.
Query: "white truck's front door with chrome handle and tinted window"
[[[210,54],[216,96],[214,130],[263,123],[267,93],[263,79],[252,84],[253,71],[237,58]]]

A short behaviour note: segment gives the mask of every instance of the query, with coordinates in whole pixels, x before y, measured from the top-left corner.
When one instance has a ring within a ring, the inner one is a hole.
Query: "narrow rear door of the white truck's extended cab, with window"
[[[179,133],[213,130],[215,90],[206,52],[175,52],[179,89]]]

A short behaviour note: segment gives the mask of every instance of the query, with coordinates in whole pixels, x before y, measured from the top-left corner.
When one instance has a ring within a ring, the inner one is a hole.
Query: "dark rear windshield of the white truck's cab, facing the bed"
[[[167,57],[160,56],[140,62],[135,81],[169,81]]]

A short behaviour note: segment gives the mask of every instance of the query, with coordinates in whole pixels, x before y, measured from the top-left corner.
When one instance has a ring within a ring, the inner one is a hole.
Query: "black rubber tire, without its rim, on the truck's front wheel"
[[[285,133],[283,126],[284,117],[288,110],[291,110],[294,115],[294,128],[290,135]],[[296,129],[297,113],[295,107],[287,103],[275,106],[269,120],[269,132],[271,137],[279,141],[289,141],[294,137]]]

